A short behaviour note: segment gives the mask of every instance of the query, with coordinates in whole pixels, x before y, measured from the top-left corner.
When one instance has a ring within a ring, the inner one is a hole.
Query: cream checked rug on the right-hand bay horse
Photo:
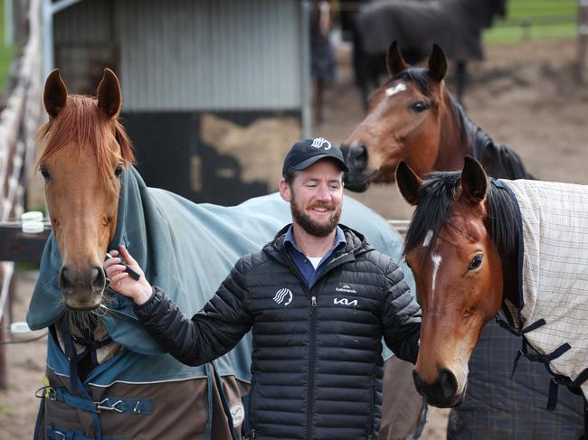
[[[505,181],[522,224],[520,313],[526,342],[588,398],[588,186]],[[520,260],[520,258],[519,258]],[[582,383],[583,382],[583,383]]]

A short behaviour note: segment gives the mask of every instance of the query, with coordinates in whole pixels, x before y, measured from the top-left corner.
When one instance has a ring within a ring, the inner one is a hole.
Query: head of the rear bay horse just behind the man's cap
[[[439,46],[433,45],[427,68],[416,68],[405,63],[393,42],[386,63],[392,78],[375,90],[367,116],[341,147],[349,166],[346,188],[351,191],[363,192],[370,183],[393,183],[401,160],[421,175],[430,173],[442,132],[452,128],[441,124],[452,110],[443,83],[447,61]],[[462,158],[460,152],[457,164]]]

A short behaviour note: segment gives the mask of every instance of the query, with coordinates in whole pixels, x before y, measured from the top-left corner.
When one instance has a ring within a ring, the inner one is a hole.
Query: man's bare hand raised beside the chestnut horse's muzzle
[[[119,247],[119,251],[111,250],[109,254],[112,258],[104,262],[104,270],[106,271],[106,276],[109,277],[110,287],[119,292],[119,294],[132,298],[136,304],[147,303],[147,300],[152,294],[151,285],[145,279],[145,274],[141,270],[141,267],[138,267],[135,258],[131,257],[128,253],[127,248],[121,246]],[[135,281],[125,272],[125,267],[120,264],[119,256],[123,257],[128,267],[140,275],[138,281]]]

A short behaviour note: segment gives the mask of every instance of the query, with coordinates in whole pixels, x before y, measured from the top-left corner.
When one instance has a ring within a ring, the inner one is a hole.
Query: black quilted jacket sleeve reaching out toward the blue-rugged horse
[[[239,260],[213,298],[192,318],[157,287],[147,303],[135,307],[135,313],[147,332],[175,359],[186,365],[201,365],[230,351],[251,329],[246,295],[243,262]]]

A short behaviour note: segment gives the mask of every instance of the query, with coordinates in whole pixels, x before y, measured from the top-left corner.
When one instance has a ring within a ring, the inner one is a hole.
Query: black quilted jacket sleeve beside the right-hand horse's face
[[[384,295],[384,341],[402,360],[416,363],[421,334],[421,307],[411,295],[403,271],[393,260],[386,271]]]

